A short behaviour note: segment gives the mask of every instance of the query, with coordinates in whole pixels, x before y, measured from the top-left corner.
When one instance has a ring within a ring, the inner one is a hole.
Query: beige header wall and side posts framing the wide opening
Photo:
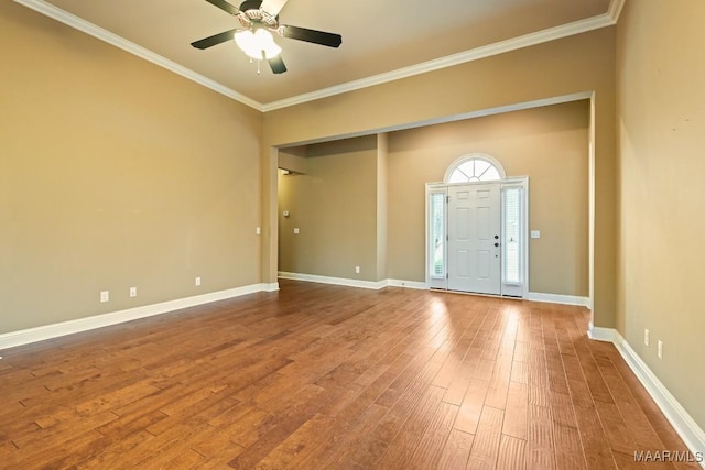
[[[595,92],[595,324],[614,326],[615,29],[444,68],[264,114],[263,278],[276,273],[276,157],[273,146],[399,128],[421,121]],[[391,273],[390,273],[391,275]]]

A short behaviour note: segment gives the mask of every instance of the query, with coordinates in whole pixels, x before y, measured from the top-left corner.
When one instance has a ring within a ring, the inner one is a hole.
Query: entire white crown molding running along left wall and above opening
[[[427,72],[438,70],[442,68],[453,67],[456,65],[465,64],[473,61],[479,61],[481,58],[491,57],[495,55],[503,54],[511,51],[517,51],[523,47],[530,47],[533,45],[560,40],[576,34],[587,33],[589,31],[598,30],[601,28],[612,26],[617,22],[617,18],[621,12],[625,0],[611,0],[609,4],[608,13],[604,13],[597,17],[587,18],[585,20],[575,21],[573,23],[562,24],[560,26],[550,28],[547,30],[536,31],[534,33],[525,34],[523,36],[513,37],[498,43],[488,44],[486,46],[476,47],[469,51],[465,51],[458,54],[448,55],[434,61],[424,62],[421,64],[412,65],[409,67],[399,68],[397,70],[387,72],[371,77],[362,78],[359,80],[348,81],[345,84],[336,85],[328,88],[323,88],[316,91],[297,95],[291,98],[285,98],[268,103],[256,101],[231,88],[226,87],[204,75],[200,75],[183,65],[176,64],[173,61],[167,59],[145,47],[142,47],[133,42],[126,40],[108,30],[105,30],[89,21],[86,21],[75,14],[68,13],[44,0],[13,0],[15,3],[28,7],[39,13],[50,17],[56,21],[59,21],[68,26],[72,26],[78,31],[89,34],[100,41],[105,41],[116,47],[121,48],[130,54],[133,54],[140,58],[149,61],[160,67],[166,68],[170,72],[181,75],[192,81],[203,85],[206,88],[219,92],[228,98],[239,101],[250,108],[253,108],[260,112],[274,111],[282,108],[288,108],[295,105],[301,105],[307,101],[313,101],[322,98],[332,97],[335,95],[341,95],[349,91],[359,90],[362,88],[372,87],[376,85],[386,84],[389,81],[399,80],[402,78],[413,77],[415,75],[425,74]]]

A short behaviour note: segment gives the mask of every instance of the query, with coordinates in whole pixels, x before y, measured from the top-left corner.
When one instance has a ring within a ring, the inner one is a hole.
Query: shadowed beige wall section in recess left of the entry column
[[[279,270],[377,281],[377,136],[310,145],[306,155],[305,174],[279,177]]]

